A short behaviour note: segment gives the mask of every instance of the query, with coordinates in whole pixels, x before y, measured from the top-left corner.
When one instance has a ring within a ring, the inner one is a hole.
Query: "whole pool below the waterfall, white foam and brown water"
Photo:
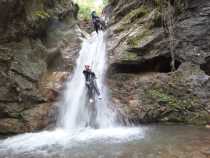
[[[154,125],[28,133],[1,140],[0,158],[210,158],[210,130]]]

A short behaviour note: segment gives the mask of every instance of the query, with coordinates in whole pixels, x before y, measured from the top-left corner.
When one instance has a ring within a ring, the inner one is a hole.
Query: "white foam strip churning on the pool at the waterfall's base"
[[[141,128],[106,128],[106,129],[81,129],[66,131],[56,129],[40,133],[26,133],[0,141],[0,151],[13,150],[15,152],[40,151],[53,145],[63,147],[77,146],[82,142],[104,141],[119,143],[133,139],[143,138]]]

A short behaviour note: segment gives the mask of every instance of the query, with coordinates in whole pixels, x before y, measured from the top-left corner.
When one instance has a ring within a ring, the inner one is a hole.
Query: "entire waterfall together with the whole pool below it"
[[[97,76],[102,100],[96,100],[98,128],[87,126],[87,108],[82,71],[90,64]],[[208,158],[209,130],[204,127],[150,125],[122,127],[109,109],[104,83],[106,48],[104,34],[85,39],[77,65],[66,82],[58,104],[57,128],[25,133],[0,140],[0,158]]]

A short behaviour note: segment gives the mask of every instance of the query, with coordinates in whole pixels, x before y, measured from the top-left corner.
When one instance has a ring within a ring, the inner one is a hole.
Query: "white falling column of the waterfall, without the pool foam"
[[[106,70],[106,48],[103,32],[98,35],[93,34],[90,39],[83,42],[76,69],[67,82],[67,89],[60,102],[63,105],[60,125],[68,130],[77,129],[85,127],[87,121],[90,120],[93,111],[88,111],[90,105],[86,101],[85,79],[82,73],[84,65],[90,65],[92,71],[95,72],[103,98],[96,100],[97,124],[99,127],[111,127],[114,124],[114,113],[107,107],[107,92],[103,83]]]

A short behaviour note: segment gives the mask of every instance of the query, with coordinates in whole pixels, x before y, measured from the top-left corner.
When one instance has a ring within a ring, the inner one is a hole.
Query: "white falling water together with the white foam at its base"
[[[96,100],[95,105],[97,129],[86,127],[93,111],[88,110],[89,105],[86,102],[85,78],[83,76],[85,64],[91,65],[92,71],[95,72],[102,95],[102,100]],[[66,89],[60,102],[58,102],[61,110],[57,128],[53,131],[25,133],[0,140],[0,158],[2,155],[3,157],[14,158],[22,153],[28,155],[38,154],[38,157],[40,157],[40,153],[48,153],[49,155],[52,155],[53,151],[60,153],[58,146],[61,149],[76,146],[80,150],[80,146],[84,142],[91,144],[98,141],[103,144],[107,141],[112,143],[116,141],[127,142],[128,139],[142,138],[143,132],[141,128],[117,126],[115,113],[108,108],[110,103],[104,84],[105,72],[106,47],[104,33],[93,33],[90,38],[83,41],[75,71],[66,82]],[[61,157],[63,156],[61,155]]]

